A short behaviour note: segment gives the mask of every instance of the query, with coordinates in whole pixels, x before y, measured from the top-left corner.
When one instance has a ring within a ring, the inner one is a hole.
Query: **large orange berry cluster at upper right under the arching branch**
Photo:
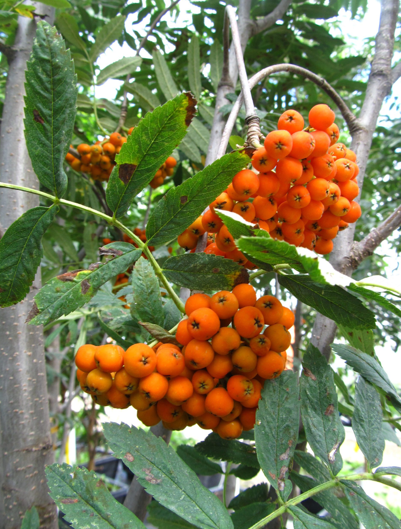
[[[239,171],[209,209],[179,235],[178,244],[193,250],[199,235],[208,232],[206,253],[255,268],[216,215],[215,209],[223,209],[258,224],[274,239],[330,253],[338,232],[361,216],[354,200],[359,194],[356,154],[337,143],[340,131],[334,118],[329,106],[315,105],[304,129],[299,112],[284,112],[278,130],[254,151],[253,170]]]

